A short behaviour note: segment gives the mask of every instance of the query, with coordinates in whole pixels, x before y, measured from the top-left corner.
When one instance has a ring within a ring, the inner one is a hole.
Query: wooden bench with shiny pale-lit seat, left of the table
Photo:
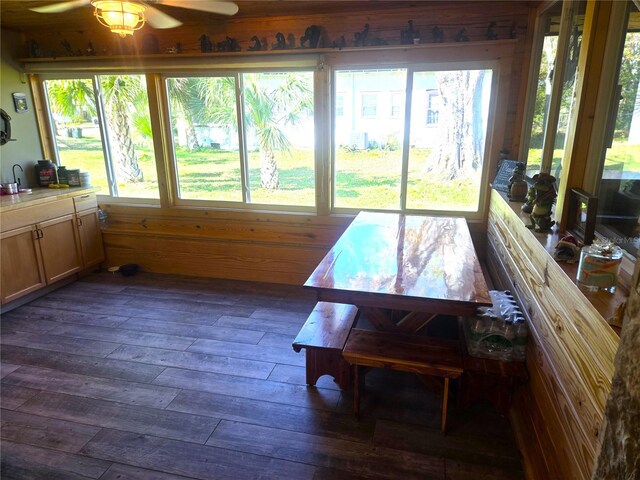
[[[358,317],[358,308],[344,303],[318,302],[293,341],[293,349],[306,349],[307,385],[331,375],[343,390],[351,386],[351,366],[342,349]]]

